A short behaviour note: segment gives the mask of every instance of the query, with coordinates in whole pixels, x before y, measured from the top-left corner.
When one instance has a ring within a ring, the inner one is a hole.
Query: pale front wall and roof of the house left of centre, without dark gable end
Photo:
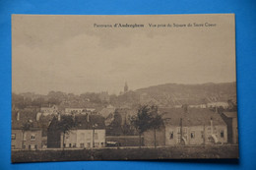
[[[76,126],[63,136],[61,147],[93,148],[105,146],[104,118],[100,115],[76,115]],[[64,144],[63,144],[64,142]]]

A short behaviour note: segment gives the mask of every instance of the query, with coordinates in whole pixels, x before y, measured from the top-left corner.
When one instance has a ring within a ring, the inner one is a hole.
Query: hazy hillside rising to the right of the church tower
[[[181,104],[204,104],[209,102],[236,102],[236,83],[179,85],[165,84],[140,88],[119,95],[118,98],[127,99],[126,102],[141,104],[154,103],[161,106]]]

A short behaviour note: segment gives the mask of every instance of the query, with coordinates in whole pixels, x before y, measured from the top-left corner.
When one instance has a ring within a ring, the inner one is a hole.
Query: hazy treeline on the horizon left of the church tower
[[[74,93],[65,93],[62,91],[49,91],[48,94],[12,93],[12,105],[23,109],[26,107],[43,107],[49,105],[65,105],[83,107],[114,104],[117,101],[117,95],[109,95],[107,92],[86,92],[80,95]]]

